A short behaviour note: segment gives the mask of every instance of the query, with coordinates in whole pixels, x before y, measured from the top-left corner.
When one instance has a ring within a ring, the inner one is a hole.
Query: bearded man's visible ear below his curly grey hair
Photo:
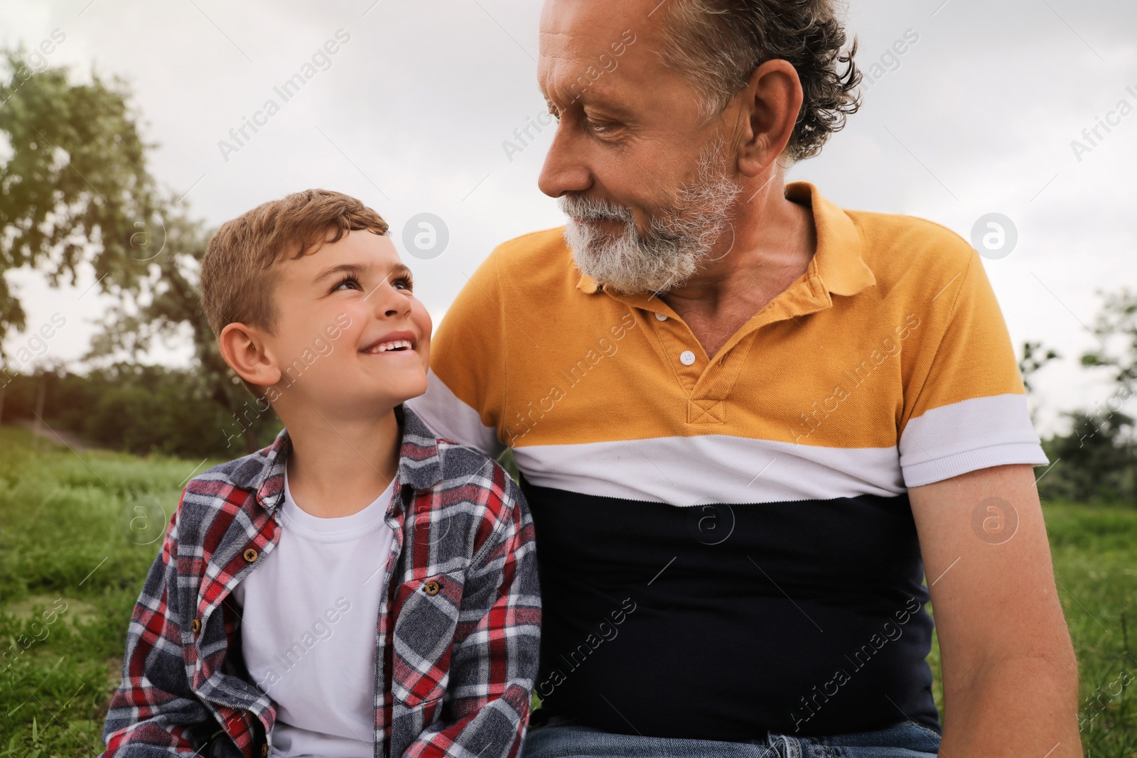
[[[767,60],[750,74],[742,90],[745,100],[739,120],[745,140],[738,170],[758,176],[778,160],[794,135],[804,93],[797,69],[788,60]]]

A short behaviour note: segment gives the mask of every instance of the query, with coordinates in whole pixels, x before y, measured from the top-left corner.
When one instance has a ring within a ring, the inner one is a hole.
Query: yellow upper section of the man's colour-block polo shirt
[[[557,227],[495,249],[439,327],[432,368],[511,447],[723,434],[885,448],[933,408],[1022,394],[964,240],[845,211],[804,182],[787,197],[813,208],[808,270],[713,360],[658,298],[582,277]]]

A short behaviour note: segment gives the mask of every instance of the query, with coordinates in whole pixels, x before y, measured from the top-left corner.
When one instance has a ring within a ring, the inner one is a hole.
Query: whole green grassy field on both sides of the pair
[[[142,577],[183,483],[214,463],[80,458],[0,427],[0,758],[102,750]],[[1132,758],[1137,510],[1048,505],[1046,518],[1081,665],[1086,755]],[[935,649],[931,664],[938,674]]]

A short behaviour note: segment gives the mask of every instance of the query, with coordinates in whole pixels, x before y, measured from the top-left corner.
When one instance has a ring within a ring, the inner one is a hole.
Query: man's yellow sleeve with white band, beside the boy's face
[[[497,433],[507,360],[503,307],[495,252],[462,288],[431,338],[426,393],[407,401],[439,436],[493,458],[505,450]]]

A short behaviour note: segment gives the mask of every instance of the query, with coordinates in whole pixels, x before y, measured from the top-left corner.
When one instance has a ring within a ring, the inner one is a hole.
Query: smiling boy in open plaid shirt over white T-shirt
[[[500,466],[402,406],[426,389],[431,320],[387,231],[309,190],[210,241],[209,326],[284,430],[186,485],[103,755],[518,753],[541,613],[532,523]]]

